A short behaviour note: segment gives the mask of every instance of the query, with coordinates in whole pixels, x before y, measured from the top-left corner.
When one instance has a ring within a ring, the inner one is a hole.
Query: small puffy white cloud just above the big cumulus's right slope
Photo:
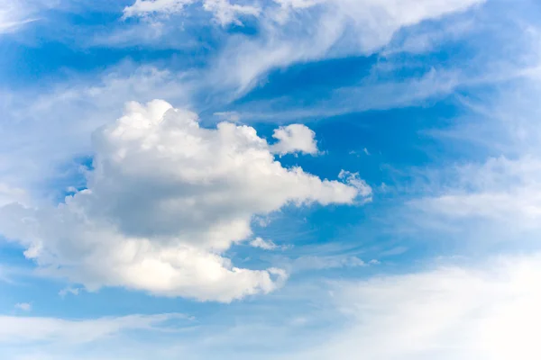
[[[316,132],[307,128],[306,125],[291,124],[280,127],[274,130],[272,137],[278,139],[278,142],[272,145],[271,151],[280,155],[297,152],[316,155],[318,152]]]

